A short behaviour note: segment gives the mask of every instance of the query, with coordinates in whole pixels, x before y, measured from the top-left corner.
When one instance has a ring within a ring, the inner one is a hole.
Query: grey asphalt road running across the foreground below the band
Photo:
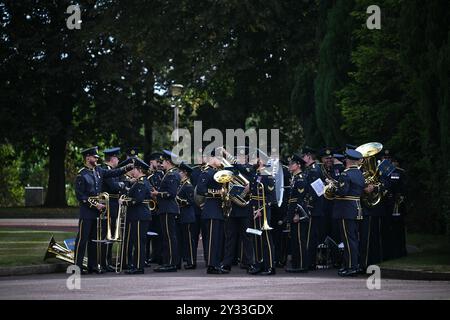
[[[143,275],[85,275],[79,290],[66,286],[68,274],[0,278],[0,299],[450,299],[449,281],[382,279],[369,290],[367,277],[340,278],[335,270],[302,275],[278,269],[275,276],[249,276],[237,267],[228,275],[206,275],[205,269]]]

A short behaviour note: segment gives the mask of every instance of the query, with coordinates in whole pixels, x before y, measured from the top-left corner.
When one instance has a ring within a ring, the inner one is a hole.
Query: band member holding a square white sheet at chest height
[[[311,211],[307,240],[309,268],[311,270],[316,269],[317,246],[324,240],[324,197],[323,195],[318,196],[311,184],[317,179],[321,179],[322,182],[325,183],[325,177],[322,174],[319,164],[316,162],[315,154],[316,152],[312,148],[304,147],[302,149],[302,160],[305,161],[306,164],[304,176],[308,185],[308,206]]]

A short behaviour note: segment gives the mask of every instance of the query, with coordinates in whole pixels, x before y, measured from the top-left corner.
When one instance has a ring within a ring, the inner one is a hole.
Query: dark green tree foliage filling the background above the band
[[[283,156],[382,142],[409,175],[410,228],[448,232],[448,1],[90,1],[79,31],[69,3],[0,1],[4,204],[27,183],[76,204],[83,147],[169,148],[182,83],[184,128],[279,128]]]

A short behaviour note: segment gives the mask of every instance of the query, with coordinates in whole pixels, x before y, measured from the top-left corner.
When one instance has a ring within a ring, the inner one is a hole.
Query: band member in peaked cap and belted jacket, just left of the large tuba
[[[344,277],[358,272],[358,219],[362,215],[360,199],[365,188],[364,176],[358,168],[361,153],[347,150],[345,156],[346,169],[339,177],[333,206],[333,217],[339,220],[344,241],[344,265],[338,272]]]

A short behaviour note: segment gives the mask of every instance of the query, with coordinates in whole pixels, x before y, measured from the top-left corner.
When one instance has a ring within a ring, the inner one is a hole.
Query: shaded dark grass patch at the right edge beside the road
[[[450,272],[450,243],[446,236],[429,234],[408,234],[408,245],[417,247],[420,252],[386,261],[380,267],[404,270]]]

